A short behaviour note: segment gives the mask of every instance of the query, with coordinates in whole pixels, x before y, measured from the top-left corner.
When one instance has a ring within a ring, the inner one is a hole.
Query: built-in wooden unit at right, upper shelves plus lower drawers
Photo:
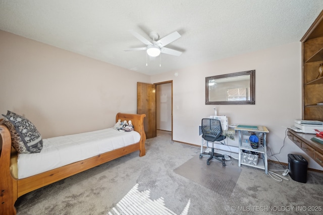
[[[323,77],[318,67],[323,63],[323,11],[307,30],[302,42],[302,119],[323,121]],[[323,145],[311,140],[315,134],[288,129],[288,137],[316,163],[323,167]]]

